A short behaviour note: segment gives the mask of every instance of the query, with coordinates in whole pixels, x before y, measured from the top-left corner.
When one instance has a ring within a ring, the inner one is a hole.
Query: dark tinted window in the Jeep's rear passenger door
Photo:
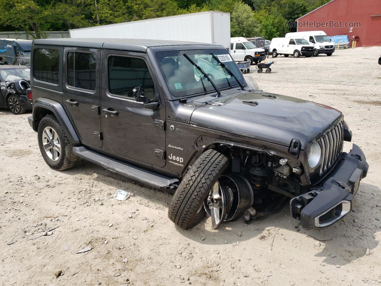
[[[67,84],[86,90],[96,87],[96,55],[94,53],[67,53]]]

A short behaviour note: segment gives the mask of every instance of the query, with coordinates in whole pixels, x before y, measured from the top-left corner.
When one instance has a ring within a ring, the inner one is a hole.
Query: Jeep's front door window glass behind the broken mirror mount
[[[133,98],[133,89],[140,86],[149,100],[154,99],[154,81],[144,59],[109,56],[107,64],[110,93]]]

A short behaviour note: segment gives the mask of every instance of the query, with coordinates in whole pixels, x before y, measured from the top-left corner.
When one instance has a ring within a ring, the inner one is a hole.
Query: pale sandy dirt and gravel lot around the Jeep
[[[288,209],[250,225],[212,230],[205,219],[181,230],[167,218],[169,194],[91,163],[49,169],[30,114],[1,109],[1,285],[381,285],[380,54],[280,56],[271,74],[251,73],[263,90],[341,110],[367,156],[354,212],[323,230],[300,229]],[[119,188],[136,196],[116,201],[108,193]]]

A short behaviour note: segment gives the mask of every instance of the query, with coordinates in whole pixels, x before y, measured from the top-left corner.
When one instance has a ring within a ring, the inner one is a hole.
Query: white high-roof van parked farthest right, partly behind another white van
[[[335,43],[331,42],[331,39],[323,31],[287,33],[286,37],[306,39],[311,45],[314,45],[314,56],[319,54],[331,56],[335,51]]]

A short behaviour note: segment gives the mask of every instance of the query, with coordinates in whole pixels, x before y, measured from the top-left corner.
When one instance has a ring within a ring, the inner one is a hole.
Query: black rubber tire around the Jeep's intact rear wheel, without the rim
[[[61,152],[59,152],[58,160],[54,161],[49,158],[48,154],[45,152],[45,148],[43,145],[43,131],[46,127],[50,127],[54,129],[54,131],[58,135],[59,143],[61,145]],[[46,115],[38,125],[38,146],[40,147],[40,152],[42,157],[44,158],[46,164],[54,170],[66,170],[74,167],[78,162],[82,161],[82,159],[78,156],[75,156],[73,153],[73,145],[70,143],[69,139],[66,136],[66,133],[62,126],[59,124],[57,118],[53,114]]]

